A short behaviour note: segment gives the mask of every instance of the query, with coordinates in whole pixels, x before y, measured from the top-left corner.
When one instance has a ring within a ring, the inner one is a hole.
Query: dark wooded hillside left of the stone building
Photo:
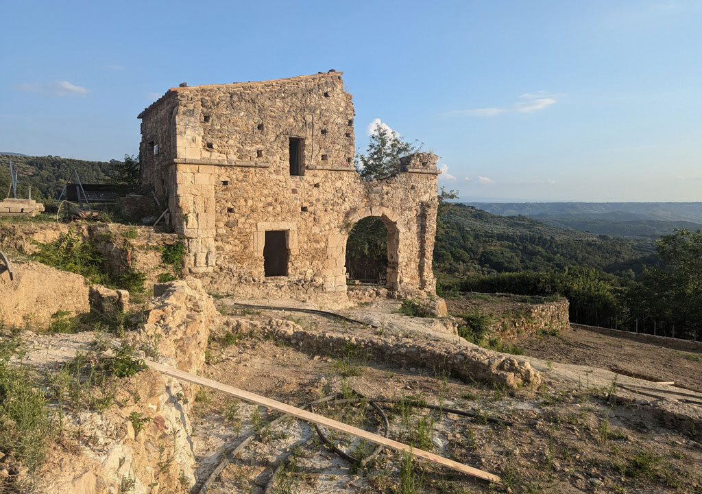
[[[10,187],[8,163],[18,170],[17,197],[27,197],[32,186],[32,199],[39,201],[56,200],[63,186],[76,168],[84,183],[107,183],[111,181],[115,164],[110,160],[84,161],[60,156],[0,155],[0,199],[4,199]]]

